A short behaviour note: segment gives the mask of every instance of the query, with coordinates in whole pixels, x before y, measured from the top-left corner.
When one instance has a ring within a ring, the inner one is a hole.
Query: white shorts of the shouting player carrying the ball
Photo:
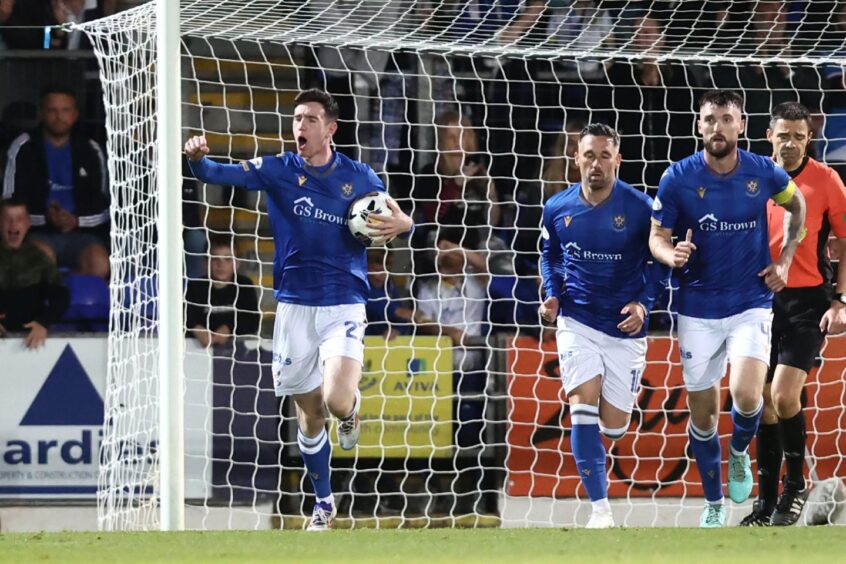
[[[277,397],[323,385],[323,363],[346,356],[364,363],[364,304],[279,303],[273,325],[273,388]]]

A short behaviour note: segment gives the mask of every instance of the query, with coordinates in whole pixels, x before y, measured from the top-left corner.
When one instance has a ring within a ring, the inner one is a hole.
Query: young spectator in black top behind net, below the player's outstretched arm
[[[258,335],[261,314],[253,281],[237,273],[232,242],[209,242],[208,279],[189,280],[185,321],[204,347],[227,344],[233,336]]]

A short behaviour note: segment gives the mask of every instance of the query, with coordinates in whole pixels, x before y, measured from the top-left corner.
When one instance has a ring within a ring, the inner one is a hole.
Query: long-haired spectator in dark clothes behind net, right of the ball
[[[513,273],[510,251],[492,234],[500,222],[499,196],[488,175],[488,159],[478,152],[475,132],[454,111],[439,115],[435,125],[435,162],[423,168],[412,190],[412,199],[419,203],[412,246],[426,251],[415,256],[417,272],[434,271],[431,251],[436,241],[446,237],[486,253],[492,272]]]

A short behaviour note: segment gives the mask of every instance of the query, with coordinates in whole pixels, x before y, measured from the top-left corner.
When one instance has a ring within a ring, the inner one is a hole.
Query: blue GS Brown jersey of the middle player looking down
[[[547,297],[558,297],[560,315],[613,337],[627,315],[623,307],[639,301],[652,308],[669,268],[649,253],[652,199],[621,180],[594,206],[581,184],[559,192],[543,208],[541,270]],[[651,264],[647,264],[651,261]],[[646,334],[647,324],[636,335]]]

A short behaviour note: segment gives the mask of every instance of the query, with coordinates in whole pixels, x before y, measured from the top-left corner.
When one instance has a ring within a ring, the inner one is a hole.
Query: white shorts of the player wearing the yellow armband
[[[755,358],[770,364],[773,313],[748,309],[723,319],[679,315],[679,349],[684,386],[701,392],[722,380],[734,358]]]

